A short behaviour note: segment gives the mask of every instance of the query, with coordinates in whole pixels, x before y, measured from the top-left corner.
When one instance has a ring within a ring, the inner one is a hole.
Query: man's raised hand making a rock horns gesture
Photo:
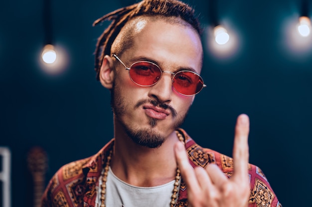
[[[208,164],[205,169],[189,164],[183,144],[175,144],[174,152],[181,175],[187,186],[191,207],[247,207],[250,195],[248,179],[249,118],[241,114],[237,118],[233,147],[234,173],[227,178],[217,165]]]

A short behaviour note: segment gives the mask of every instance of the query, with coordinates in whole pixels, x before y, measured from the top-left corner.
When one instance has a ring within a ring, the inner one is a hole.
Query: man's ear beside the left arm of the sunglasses
[[[110,56],[104,56],[103,63],[100,69],[100,81],[102,85],[108,89],[113,88],[114,83],[114,69],[113,60]]]

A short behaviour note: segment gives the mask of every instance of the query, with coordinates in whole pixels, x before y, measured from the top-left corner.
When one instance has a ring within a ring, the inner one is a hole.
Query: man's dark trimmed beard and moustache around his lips
[[[151,103],[154,106],[158,106],[163,109],[169,109],[172,115],[172,118],[176,118],[177,120],[173,123],[172,129],[175,130],[179,126],[182,125],[184,122],[187,113],[185,113],[183,116],[178,116],[177,112],[173,107],[164,104],[159,103],[155,99],[145,99],[140,100],[133,109],[129,109],[125,99],[121,96],[121,89],[120,87],[116,87],[116,85],[113,86],[111,90],[111,107],[113,109],[113,113],[115,115],[115,119],[121,123],[123,126],[126,134],[128,137],[136,144],[140,146],[145,146],[148,148],[158,148],[160,147],[163,142],[166,140],[166,137],[156,132],[155,127],[157,126],[157,122],[159,120],[149,117],[149,128],[143,128],[140,126],[130,126],[126,125],[126,123],[123,121],[122,117],[127,113],[127,110],[135,110],[139,108],[141,105],[145,103]],[[188,111],[188,109],[187,109]]]

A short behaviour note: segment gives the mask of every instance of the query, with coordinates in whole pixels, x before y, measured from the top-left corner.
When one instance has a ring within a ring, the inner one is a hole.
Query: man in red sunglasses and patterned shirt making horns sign
[[[115,138],[60,168],[42,206],[281,207],[262,171],[248,164],[247,115],[237,119],[233,159],[178,128],[205,87],[192,8],[143,0],[95,24],[107,19],[113,21],[99,38],[96,71],[111,90]]]

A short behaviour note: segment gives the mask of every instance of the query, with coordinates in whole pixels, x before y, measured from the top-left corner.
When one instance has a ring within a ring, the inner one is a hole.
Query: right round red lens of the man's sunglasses
[[[202,78],[192,71],[179,71],[173,78],[173,88],[187,96],[197,94],[203,88]]]

